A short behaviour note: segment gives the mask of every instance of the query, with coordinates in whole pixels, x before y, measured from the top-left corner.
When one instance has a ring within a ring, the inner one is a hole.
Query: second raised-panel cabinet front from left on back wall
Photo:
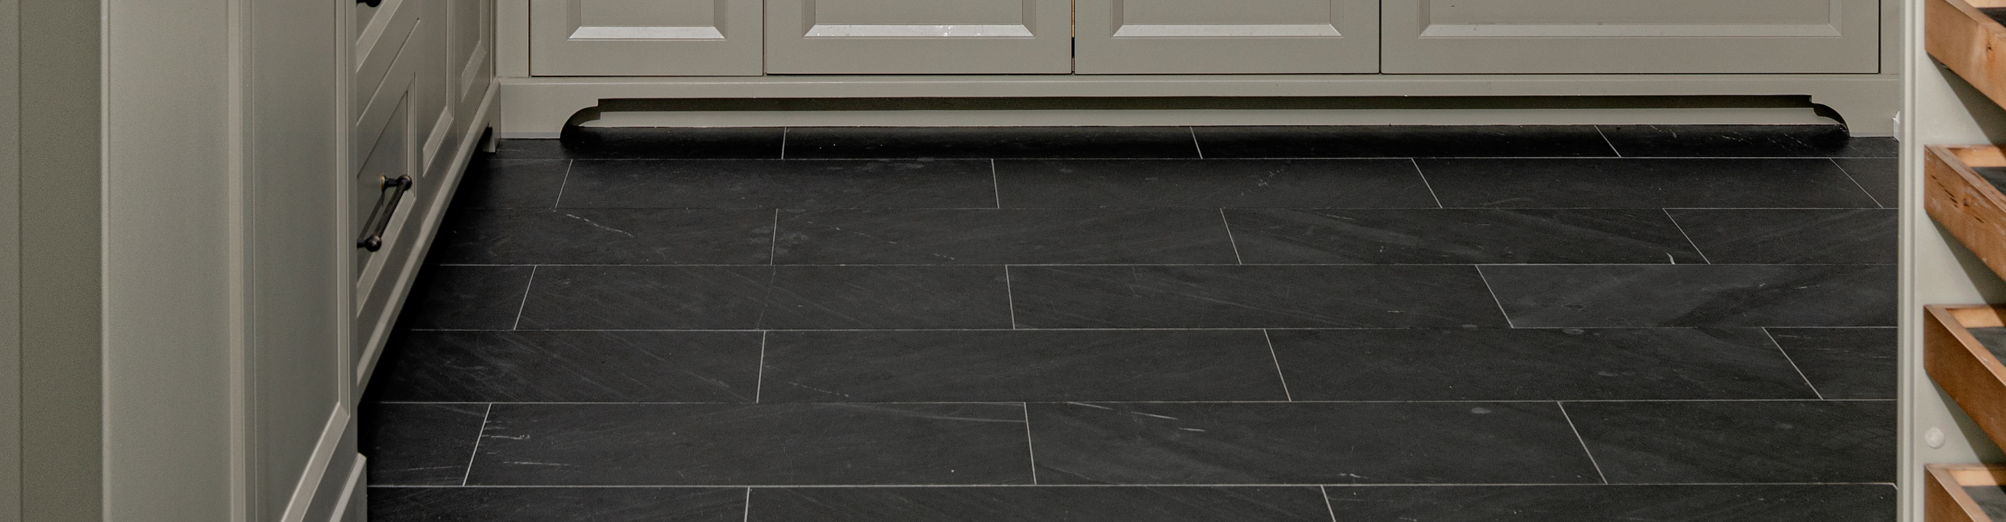
[[[1071,0],[766,0],[768,74],[1067,74]]]

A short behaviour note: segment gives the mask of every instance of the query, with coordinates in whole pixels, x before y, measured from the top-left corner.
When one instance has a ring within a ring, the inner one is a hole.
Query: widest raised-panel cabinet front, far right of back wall
[[[1386,0],[1380,70],[1880,72],[1878,0]]]

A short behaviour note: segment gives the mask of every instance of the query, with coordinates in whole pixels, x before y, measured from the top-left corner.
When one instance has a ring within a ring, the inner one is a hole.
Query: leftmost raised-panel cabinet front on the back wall
[[[760,0],[532,0],[534,76],[758,76]]]

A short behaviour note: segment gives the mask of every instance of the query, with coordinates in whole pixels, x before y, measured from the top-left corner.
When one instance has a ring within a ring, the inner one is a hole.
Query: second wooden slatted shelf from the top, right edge
[[[1994,274],[2006,274],[2006,194],[1980,170],[2002,168],[1998,146],[1928,146],[1924,154],[1924,210],[1978,254]]]

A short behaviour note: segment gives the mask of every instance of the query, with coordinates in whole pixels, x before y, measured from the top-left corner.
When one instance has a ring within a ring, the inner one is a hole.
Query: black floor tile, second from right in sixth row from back
[[[1031,404],[1039,484],[1601,482],[1553,402]]]

